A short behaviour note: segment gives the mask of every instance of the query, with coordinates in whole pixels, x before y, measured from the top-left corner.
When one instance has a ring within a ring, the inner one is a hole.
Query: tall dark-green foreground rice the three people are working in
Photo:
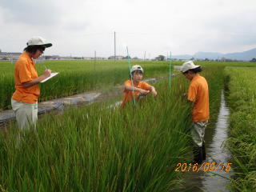
[[[211,123],[222,90],[223,67],[203,72],[210,87]],[[7,191],[170,191],[181,185],[178,162],[191,159],[190,109],[179,76],[158,82],[158,96],[136,107],[110,103],[47,114],[37,130],[18,138],[15,125],[0,134],[0,185]],[[120,99],[121,96],[118,98]],[[111,101],[113,102],[113,101]],[[188,158],[189,157],[189,158]]]

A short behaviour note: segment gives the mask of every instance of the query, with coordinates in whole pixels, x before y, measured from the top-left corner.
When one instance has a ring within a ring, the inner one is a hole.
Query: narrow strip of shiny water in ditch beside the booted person
[[[212,171],[204,171],[203,168],[198,172],[184,172],[183,178],[185,186],[180,191],[229,191],[226,186],[232,177],[232,164],[228,164],[230,153],[223,145],[228,138],[228,118],[230,110],[226,107],[224,93],[222,91],[221,106],[218,114],[218,121],[215,128],[206,128],[206,161],[204,170],[208,165],[212,166]],[[209,164],[207,164],[209,163]],[[218,168],[217,168],[218,167]]]

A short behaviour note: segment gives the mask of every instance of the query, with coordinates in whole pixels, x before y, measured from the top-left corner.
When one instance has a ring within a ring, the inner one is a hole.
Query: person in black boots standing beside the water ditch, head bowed
[[[190,80],[187,100],[193,102],[191,135],[196,147],[194,147],[194,162],[201,164],[206,160],[206,148],[204,135],[209,120],[209,93],[206,78],[198,74],[201,66],[195,66],[194,62],[184,62],[182,74]]]

